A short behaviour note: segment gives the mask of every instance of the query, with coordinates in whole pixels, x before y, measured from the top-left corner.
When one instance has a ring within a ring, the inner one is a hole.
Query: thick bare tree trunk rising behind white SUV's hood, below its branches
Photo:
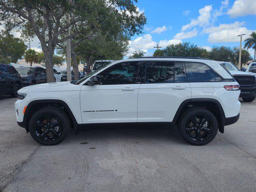
[[[47,83],[55,82],[54,72],[53,72],[53,54],[49,50],[46,52],[43,50],[45,55],[45,68],[46,68],[46,78]]]

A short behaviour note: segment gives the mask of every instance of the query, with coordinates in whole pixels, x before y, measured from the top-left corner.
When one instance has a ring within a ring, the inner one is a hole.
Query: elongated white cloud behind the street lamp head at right
[[[239,34],[246,34],[243,36],[243,39],[249,37],[249,34],[252,33],[252,30],[248,30],[246,27],[240,27],[236,29],[226,29],[209,34],[208,41],[210,43],[219,43],[219,42],[239,42]]]

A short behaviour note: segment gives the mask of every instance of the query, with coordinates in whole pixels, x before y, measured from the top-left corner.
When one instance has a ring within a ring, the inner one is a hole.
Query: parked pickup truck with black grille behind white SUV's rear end
[[[240,85],[240,98],[245,102],[252,102],[256,94],[256,77],[248,72],[240,71],[236,65],[230,62],[220,62]],[[256,63],[255,63],[256,65]],[[255,66],[256,67],[256,66]]]

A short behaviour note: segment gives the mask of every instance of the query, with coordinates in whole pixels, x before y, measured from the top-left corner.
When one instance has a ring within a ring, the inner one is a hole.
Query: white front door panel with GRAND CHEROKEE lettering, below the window
[[[82,86],[83,123],[137,122],[138,92],[139,84]]]

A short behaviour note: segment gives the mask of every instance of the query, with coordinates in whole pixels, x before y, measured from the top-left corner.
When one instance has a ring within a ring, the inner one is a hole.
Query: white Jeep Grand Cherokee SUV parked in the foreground
[[[18,125],[40,144],[61,142],[70,128],[177,124],[184,140],[204,145],[240,115],[238,83],[205,58],[119,60],[73,83],[18,91]]]

